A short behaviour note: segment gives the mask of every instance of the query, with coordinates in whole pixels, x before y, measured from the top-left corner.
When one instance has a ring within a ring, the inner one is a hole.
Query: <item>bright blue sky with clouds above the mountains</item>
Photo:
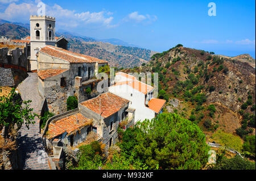
[[[0,18],[28,23],[39,0],[0,0]],[[255,58],[255,1],[42,1],[59,30],[162,52],[184,47]],[[208,3],[216,4],[209,16]]]

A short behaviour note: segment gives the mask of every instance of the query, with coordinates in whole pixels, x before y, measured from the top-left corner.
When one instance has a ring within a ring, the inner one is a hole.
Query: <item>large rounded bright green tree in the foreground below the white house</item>
[[[138,122],[122,136],[121,149],[151,169],[201,169],[209,147],[200,128],[173,113]]]

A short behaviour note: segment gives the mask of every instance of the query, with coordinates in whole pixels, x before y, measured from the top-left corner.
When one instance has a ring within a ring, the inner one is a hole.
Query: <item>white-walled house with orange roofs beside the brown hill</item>
[[[109,87],[109,92],[130,101],[129,107],[135,110],[135,123],[162,113],[166,100],[153,98],[154,87],[122,72],[115,74],[115,82]]]

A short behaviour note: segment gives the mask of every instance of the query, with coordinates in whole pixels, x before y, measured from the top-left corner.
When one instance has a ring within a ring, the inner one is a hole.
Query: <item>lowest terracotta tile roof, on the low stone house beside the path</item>
[[[47,137],[53,138],[65,132],[69,134],[90,124],[92,124],[92,120],[82,116],[81,113],[77,113],[55,122],[51,122],[48,126]]]

